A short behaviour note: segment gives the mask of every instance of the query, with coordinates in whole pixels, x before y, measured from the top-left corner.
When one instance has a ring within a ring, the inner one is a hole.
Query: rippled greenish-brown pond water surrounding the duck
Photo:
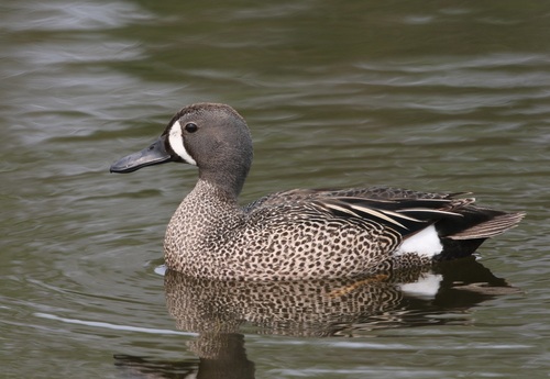
[[[546,2],[0,9],[3,377],[549,376]],[[436,272],[436,297],[384,280],[323,285],[389,300],[350,294],[346,306],[378,312],[324,304],[314,312],[321,320],[266,320],[252,302],[266,290],[253,287],[241,304],[205,314],[208,301],[189,301],[182,313],[170,299],[208,286],[173,291],[162,238],[196,171],[121,177],[108,167],[195,101],[229,103],[252,129],[243,202],[286,188],[392,185],[473,191],[528,216],[485,243],[479,263]]]

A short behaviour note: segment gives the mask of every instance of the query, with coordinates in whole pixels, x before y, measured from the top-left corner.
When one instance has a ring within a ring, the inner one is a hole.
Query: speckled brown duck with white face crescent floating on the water
[[[359,278],[469,257],[524,212],[474,204],[470,192],[393,187],[292,189],[241,207],[253,160],[250,129],[233,108],[194,103],[111,172],[180,163],[198,180],[164,238],[168,269],[216,280]]]

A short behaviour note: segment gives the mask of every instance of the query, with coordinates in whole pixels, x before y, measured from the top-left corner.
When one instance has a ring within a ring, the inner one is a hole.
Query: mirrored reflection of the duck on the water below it
[[[216,281],[167,271],[165,289],[177,327],[198,333],[189,348],[199,360],[170,364],[116,356],[117,365],[133,374],[184,378],[196,371],[197,378],[253,378],[254,364],[246,358],[241,328],[330,337],[361,336],[376,328],[466,324],[469,319],[460,313],[517,291],[473,258],[424,271],[290,282]]]

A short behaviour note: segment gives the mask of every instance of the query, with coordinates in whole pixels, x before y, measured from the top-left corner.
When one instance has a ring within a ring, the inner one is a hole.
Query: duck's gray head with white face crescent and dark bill
[[[111,172],[132,172],[167,161],[186,163],[199,168],[200,179],[237,198],[252,156],[249,127],[234,109],[197,103],[177,112],[152,145],[114,163]]]

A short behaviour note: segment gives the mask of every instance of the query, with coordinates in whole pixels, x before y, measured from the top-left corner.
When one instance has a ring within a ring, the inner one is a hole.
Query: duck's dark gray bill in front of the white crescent
[[[172,161],[172,155],[166,151],[166,137],[163,135],[141,152],[130,154],[111,165],[111,172],[133,172],[142,167]]]

